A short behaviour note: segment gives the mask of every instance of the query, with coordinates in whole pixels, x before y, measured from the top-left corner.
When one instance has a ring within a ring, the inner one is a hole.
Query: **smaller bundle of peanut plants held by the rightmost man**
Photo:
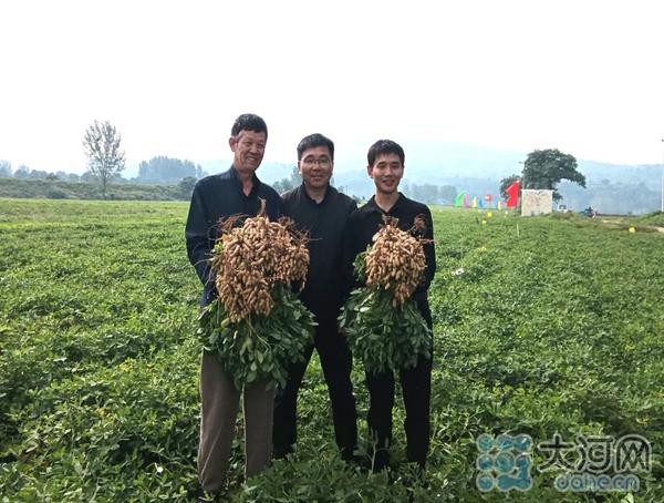
[[[426,268],[416,226],[408,232],[384,217],[373,245],[355,258],[354,274],[365,286],[351,292],[339,316],[353,355],[366,371],[381,373],[415,367],[430,357],[432,331],[413,294]]]

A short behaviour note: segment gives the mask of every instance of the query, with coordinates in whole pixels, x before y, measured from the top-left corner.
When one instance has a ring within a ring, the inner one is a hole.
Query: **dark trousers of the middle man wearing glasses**
[[[341,450],[342,458],[350,459],[357,444],[357,414],[351,382],[353,359],[345,337],[339,333],[336,320],[319,320],[314,346],[319,352],[328,383],[336,444]],[[312,352],[313,346],[307,350],[303,362],[289,368],[286,387],[277,391],[272,443],[274,455],[278,458],[291,452],[298,438],[298,391]]]

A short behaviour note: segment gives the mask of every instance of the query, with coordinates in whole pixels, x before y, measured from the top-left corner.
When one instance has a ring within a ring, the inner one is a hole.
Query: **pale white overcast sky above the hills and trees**
[[[111,121],[129,162],[230,158],[237,115],[264,161],[320,132],[577,158],[664,158],[661,0],[0,0],[0,160],[83,173]],[[407,148],[406,148],[407,154]]]

